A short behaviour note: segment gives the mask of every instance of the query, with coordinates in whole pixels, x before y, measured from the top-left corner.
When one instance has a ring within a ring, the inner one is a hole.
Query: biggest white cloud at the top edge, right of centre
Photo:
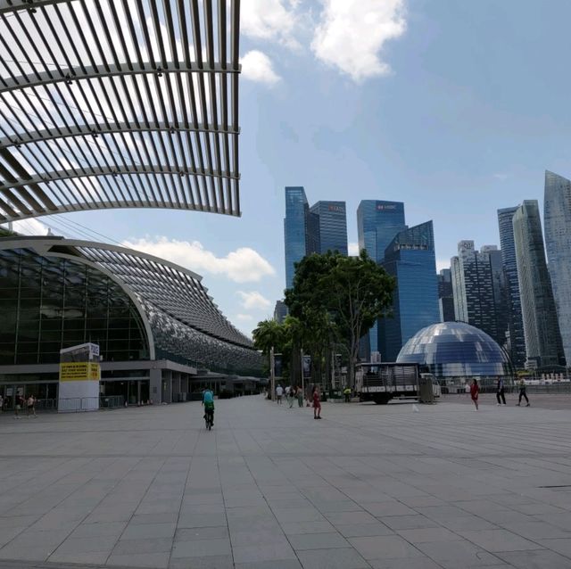
[[[406,29],[404,0],[320,0],[321,21],[311,49],[322,62],[338,68],[355,81],[385,75],[385,42]]]

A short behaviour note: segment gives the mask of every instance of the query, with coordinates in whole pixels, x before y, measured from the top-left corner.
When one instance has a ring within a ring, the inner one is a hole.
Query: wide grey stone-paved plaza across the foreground
[[[0,568],[571,568],[571,411],[511,403],[0,416]]]

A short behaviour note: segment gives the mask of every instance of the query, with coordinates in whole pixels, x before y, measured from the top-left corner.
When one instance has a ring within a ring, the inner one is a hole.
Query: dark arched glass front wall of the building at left
[[[110,278],[84,263],[0,251],[0,365],[57,363],[98,343],[107,361],[149,359],[140,315]]]

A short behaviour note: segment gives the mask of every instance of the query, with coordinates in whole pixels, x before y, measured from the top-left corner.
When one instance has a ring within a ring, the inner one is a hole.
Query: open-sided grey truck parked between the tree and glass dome
[[[361,401],[375,401],[386,405],[398,398],[418,398],[421,384],[432,383],[433,397],[440,396],[440,385],[430,374],[421,374],[418,364],[371,363],[359,364],[356,373],[355,391]]]

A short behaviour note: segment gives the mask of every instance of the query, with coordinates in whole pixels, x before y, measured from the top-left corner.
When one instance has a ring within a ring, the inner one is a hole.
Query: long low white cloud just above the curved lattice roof
[[[236,283],[258,282],[263,276],[276,273],[269,262],[250,247],[240,247],[229,252],[226,257],[217,257],[213,252],[204,249],[203,244],[198,241],[155,237],[154,240],[142,238],[122,244],[170,260],[198,274],[224,275]]]

